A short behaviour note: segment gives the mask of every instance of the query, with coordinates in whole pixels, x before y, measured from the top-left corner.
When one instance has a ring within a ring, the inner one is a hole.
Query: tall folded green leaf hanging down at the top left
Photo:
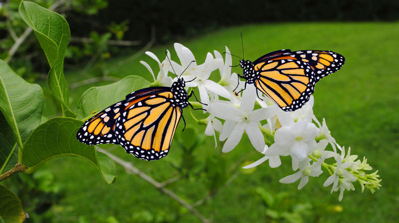
[[[19,12],[25,23],[33,29],[46,54],[50,65],[50,90],[62,103],[64,115],[75,116],[69,109],[69,91],[64,77],[64,55],[70,38],[68,23],[60,14],[31,2],[21,2]]]

